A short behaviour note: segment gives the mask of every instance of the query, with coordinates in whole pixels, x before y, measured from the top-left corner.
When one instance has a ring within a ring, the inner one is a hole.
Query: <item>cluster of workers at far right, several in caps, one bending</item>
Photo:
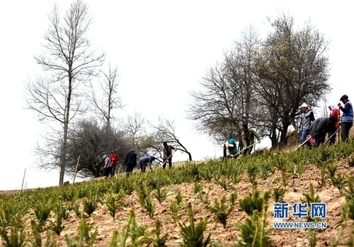
[[[329,142],[333,144],[339,130],[341,140],[344,142],[348,140],[350,128],[353,126],[353,105],[348,100],[348,95],[343,95],[339,101],[338,108],[334,105],[329,106],[329,116],[318,119],[314,118],[314,112],[306,103],[302,104],[299,125],[300,144],[310,145],[310,139],[313,139],[314,147],[319,147],[321,143],[325,143],[327,133]]]

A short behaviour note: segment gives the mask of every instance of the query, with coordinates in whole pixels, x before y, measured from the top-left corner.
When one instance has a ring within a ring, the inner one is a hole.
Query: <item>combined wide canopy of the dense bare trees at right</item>
[[[198,131],[220,142],[240,140],[247,123],[272,141],[287,144],[287,131],[302,102],[317,106],[331,89],[328,43],[309,23],[295,28],[291,16],[269,20],[264,40],[251,26],[241,34],[224,59],[207,71],[201,90],[191,92],[188,117]]]

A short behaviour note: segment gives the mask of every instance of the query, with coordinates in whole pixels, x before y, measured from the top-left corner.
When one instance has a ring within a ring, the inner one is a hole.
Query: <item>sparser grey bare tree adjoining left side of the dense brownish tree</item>
[[[242,123],[256,125],[261,109],[255,97],[254,57],[260,41],[252,26],[241,33],[224,60],[210,68],[200,83],[202,90],[191,92],[188,117],[196,128],[212,135],[217,143],[229,137],[240,139]]]

